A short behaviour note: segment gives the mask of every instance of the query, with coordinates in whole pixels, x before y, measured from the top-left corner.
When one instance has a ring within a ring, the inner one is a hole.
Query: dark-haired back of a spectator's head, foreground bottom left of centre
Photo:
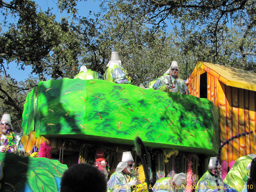
[[[106,176],[90,164],[75,164],[61,178],[60,192],[106,192]]]

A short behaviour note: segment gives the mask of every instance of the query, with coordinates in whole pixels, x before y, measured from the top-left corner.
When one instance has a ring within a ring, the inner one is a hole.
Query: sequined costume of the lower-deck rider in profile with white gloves
[[[107,192],[131,192],[128,175],[114,172],[108,181]]]

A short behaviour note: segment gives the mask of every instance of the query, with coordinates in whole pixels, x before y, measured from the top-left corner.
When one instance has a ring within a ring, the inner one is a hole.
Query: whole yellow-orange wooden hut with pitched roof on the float
[[[256,73],[198,62],[188,79],[188,90],[191,95],[212,101],[219,110],[221,142],[239,133],[253,131],[223,147],[221,161],[230,163],[256,153]]]

